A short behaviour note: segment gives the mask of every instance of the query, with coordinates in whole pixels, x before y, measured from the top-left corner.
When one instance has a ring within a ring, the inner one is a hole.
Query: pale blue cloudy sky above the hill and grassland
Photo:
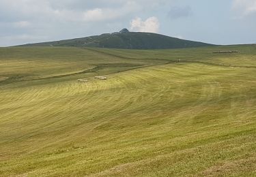
[[[123,28],[211,44],[255,44],[256,0],[0,0],[0,46]]]

